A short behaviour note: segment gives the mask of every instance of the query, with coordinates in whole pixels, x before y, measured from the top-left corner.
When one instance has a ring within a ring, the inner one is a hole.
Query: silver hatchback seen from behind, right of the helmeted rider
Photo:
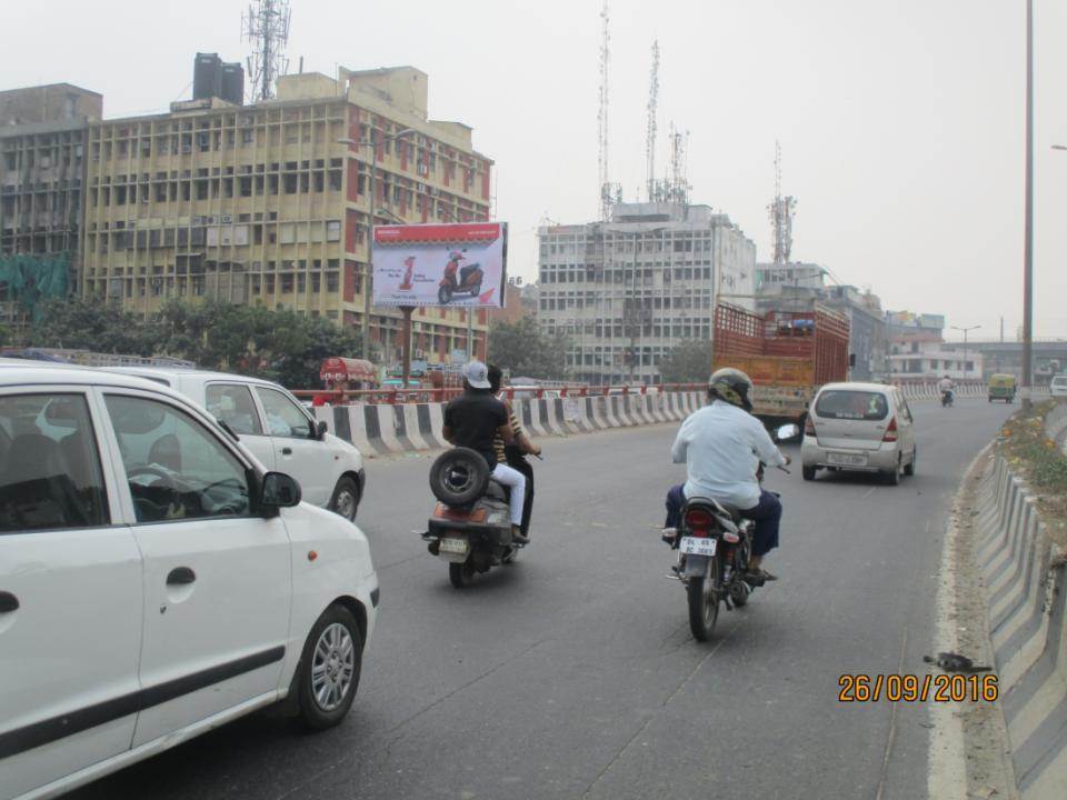
[[[817,470],[877,472],[889,483],[915,474],[911,410],[882,383],[827,383],[808,409],[800,446],[805,480]]]

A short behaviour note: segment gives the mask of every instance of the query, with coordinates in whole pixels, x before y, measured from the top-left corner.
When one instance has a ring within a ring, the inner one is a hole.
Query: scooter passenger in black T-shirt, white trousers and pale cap
[[[511,538],[526,543],[521,531],[526,476],[497,459],[493,439],[499,436],[510,444],[515,434],[507,408],[492,396],[489,369],[481,361],[469,361],[463,368],[463,393],[445,407],[442,432],[449,443],[478,452],[489,464],[493,480],[511,489]]]

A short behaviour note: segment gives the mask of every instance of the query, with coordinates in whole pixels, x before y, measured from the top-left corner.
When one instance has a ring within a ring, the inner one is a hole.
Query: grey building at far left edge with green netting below
[[[0,92],[0,323],[20,327],[77,274],[87,126],[102,107],[69,83]]]

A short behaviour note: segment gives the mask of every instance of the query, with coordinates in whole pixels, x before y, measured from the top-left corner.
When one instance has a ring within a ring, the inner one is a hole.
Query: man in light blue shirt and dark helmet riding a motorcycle
[[[670,449],[674,463],[687,464],[688,480],[667,492],[667,522],[664,540],[677,539],[681,509],[687,498],[706,497],[726,503],[756,522],[749,576],[777,580],[762,569],[764,556],[778,547],[781,502],[760,487],[756,470],[760,461],[769,467],[791,462],[784,456],[762,423],[749,413],[752,381],[740,370],[717,370],[708,380],[711,401],[692,413],[678,430]]]

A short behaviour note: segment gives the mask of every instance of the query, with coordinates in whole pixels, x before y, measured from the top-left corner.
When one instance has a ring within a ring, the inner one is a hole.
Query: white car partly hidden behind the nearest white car
[[[277,383],[193,369],[121,367],[112,371],[169,386],[226,422],[267,469],[300,481],[303,499],[356,519],[367,477],[363,457],[326,431],[312,412]]]

